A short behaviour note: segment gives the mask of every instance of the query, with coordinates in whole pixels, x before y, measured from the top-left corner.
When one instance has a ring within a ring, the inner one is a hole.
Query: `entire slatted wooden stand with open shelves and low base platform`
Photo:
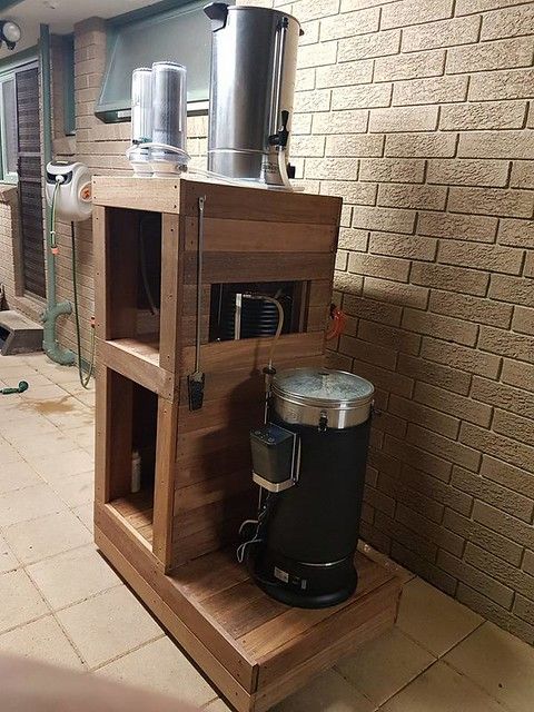
[[[206,380],[191,411],[199,198]],[[322,364],[340,200],[97,177],[93,201],[97,544],[239,712],[267,710],[392,625],[399,594],[394,576],[358,555],[349,601],[290,609],[235,560],[239,524],[255,514],[248,431],[263,417],[270,339],[210,342],[212,294],[230,283],[291,284],[276,365]],[[132,494],[135,451],[142,473]]]

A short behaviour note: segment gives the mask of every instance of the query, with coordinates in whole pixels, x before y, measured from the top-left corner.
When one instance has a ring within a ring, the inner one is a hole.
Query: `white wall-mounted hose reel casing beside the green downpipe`
[[[91,217],[92,174],[88,166],[68,160],[52,160],[47,166],[47,202],[52,205],[56,186],[56,214],[60,220],[79,222]]]

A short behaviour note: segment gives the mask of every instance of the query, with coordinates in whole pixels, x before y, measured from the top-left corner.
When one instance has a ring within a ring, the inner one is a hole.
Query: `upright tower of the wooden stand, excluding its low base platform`
[[[202,408],[191,412],[187,378],[195,368],[199,196],[206,196],[200,334],[206,385]],[[120,498],[115,511],[121,531],[142,540],[144,547],[148,543],[158,565],[171,571],[234,541],[240,522],[255,511],[249,428],[263,419],[263,368],[271,339],[208,343],[211,287],[297,283],[298,318],[291,329],[298,332],[280,337],[276,365],[320,365],[340,200],[190,177],[150,181],[97,177],[95,205],[98,359],[115,374],[109,383],[139,384],[159,397],[156,447],[142,442],[144,477],[154,477],[154,503],[150,512],[146,507],[136,512],[141,505],[128,496],[127,485],[131,447],[139,448],[137,419],[144,406],[134,408],[134,442],[131,434],[128,439],[119,433],[120,452],[112,455],[109,433],[119,426],[110,424],[110,414],[122,404],[117,387],[108,384],[101,390],[98,417],[105,423],[108,448],[98,465],[101,501]],[[139,268],[141,241],[147,274],[155,284],[161,269],[159,315],[147,310]],[[155,419],[155,413],[150,417]],[[131,431],[131,414],[129,418]],[[121,472],[115,462],[121,463]],[[154,473],[146,472],[152,466]]]

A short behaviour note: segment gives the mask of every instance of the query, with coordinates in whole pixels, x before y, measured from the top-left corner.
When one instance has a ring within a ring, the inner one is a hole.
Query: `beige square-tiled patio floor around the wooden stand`
[[[43,355],[0,356],[0,651],[176,694],[217,693],[97,554],[93,392]],[[400,571],[395,629],[279,712],[532,712],[534,650]]]

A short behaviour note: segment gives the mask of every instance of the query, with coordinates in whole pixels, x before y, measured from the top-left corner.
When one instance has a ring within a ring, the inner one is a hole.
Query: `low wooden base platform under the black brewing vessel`
[[[263,593],[234,548],[166,575],[127,502],[97,504],[95,517],[102,554],[238,712],[268,710],[395,621],[400,582],[359,553],[356,594],[307,611]]]

